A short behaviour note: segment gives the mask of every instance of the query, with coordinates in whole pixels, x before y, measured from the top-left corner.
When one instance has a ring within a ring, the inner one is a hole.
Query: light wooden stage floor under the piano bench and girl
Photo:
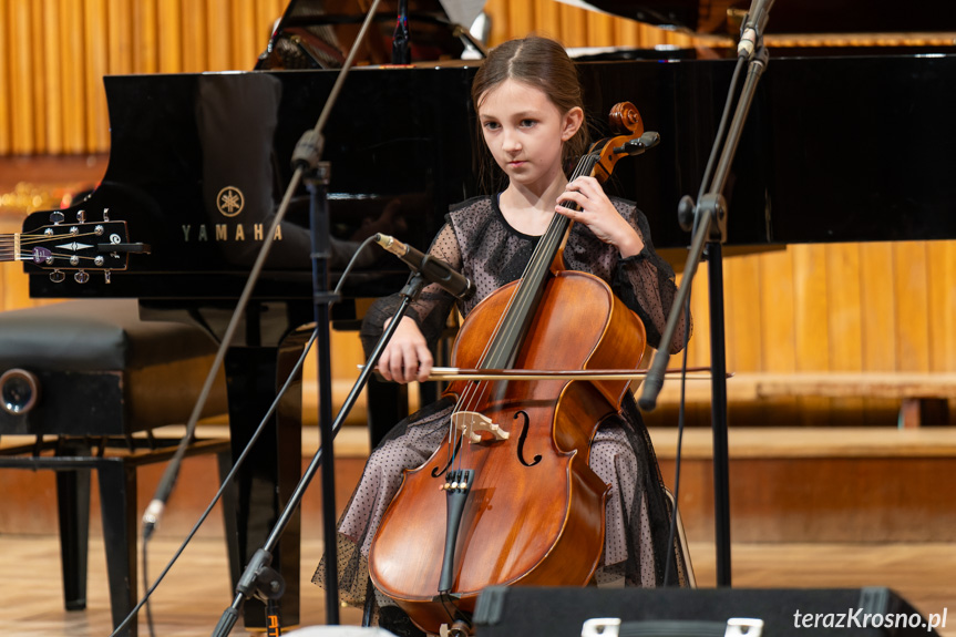
[[[150,575],[160,574],[178,540],[150,543]],[[322,590],[308,583],[321,542],[302,544],[302,625],[325,623]],[[753,588],[887,586],[921,613],[947,610],[940,635],[956,637],[956,551],[950,544],[739,544],[732,547],[732,584]],[[713,586],[711,544],[691,544],[698,585]],[[142,574],[141,574],[142,577]],[[191,545],[157,589],[152,614],[156,635],[199,637],[212,634],[233,600],[223,542],[202,538]],[[105,637],[111,631],[103,542],[90,541],[88,608],[63,609],[59,543],[55,536],[0,535],[0,633],[18,637]],[[357,609],[341,612],[342,624],[359,624]],[[234,635],[246,634],[240,626]],[[148,636],[145,613],[140,635]]]

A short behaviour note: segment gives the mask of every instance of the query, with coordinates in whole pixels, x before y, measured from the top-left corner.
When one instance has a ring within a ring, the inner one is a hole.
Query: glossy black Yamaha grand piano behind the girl
[[[713,4],[697,0],[593,3],[700,32],[724,21]],[[146,317],[186,320],[222,336],[289,179],[292,147],[315,124],[360,18],[329,17],[321,4],[289,6],[258,70],[104,79],[109,167],[85,201],[56,214],[69,223],[80,209],[89,220],[109,210],[111,219],[126,222],[131,242],[151,245],[151,254],[92,266],[60,258],[28,263],[31,296],[135,297]],[[908,3],[912,23],[878,25],[881,13],[898,17],[882,11],[888,2],[861,9],[849,0],[801,1],[794,11],[795,4],[778,2],[770,32],[788,30],[787,20],[798,31],[819,30],[814,17],[818,23],[843,20],[841,31],[859,24],[956,31],[944,9],[932,13],[934,2]],[[388,62],[392,6],[368,47],[373,64],[349,76],[326,131],[337,273],[374,232],[424,249],[448,206],[479,193],[469,86],[480,61],[460,60],[465,44],[440,9],[412,1],[410,10],[419,63],[380,65]],[[728,245],[956,237],[956,50],[810,53],[771,48],[729,181]],[[579,63],[598,131],[602,113],[628,100],[661,135],[651,153],[623,163],[609,185],[647,213],[658,248],[680,250],[688,243],[677,203],[698,189],[732,68],[726,55],[698,59],[691,51],[623,51]],[[299,328],[312,320],[306,213],[301,193],[226,359],[236,453],[301,351]],[[50,216],[30,215],[24,233],[48,225]],[[335,320],[353,325],[357,299],[391,294],[407,276],[389,255],[363,256]],[[298,479],[300,398],[288,401],[240,481],[237,563],[261,544]],[[298,620],[298,535],[294,522],[275,562],[288,584],[284,615],[290,624]],[[247,625],[257,621],[260,610],[247,613]]]

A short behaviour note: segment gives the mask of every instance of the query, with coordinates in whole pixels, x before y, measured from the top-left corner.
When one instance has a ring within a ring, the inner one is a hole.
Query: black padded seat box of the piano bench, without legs
[[[129,435],[185,423],[215,353],[196,327],[140,320],[135,299],[0,312],[0,435]],[[228,412],[223,378],[203,415]]]

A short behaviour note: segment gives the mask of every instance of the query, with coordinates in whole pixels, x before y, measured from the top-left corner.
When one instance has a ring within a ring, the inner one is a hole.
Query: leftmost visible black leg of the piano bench
[[[90,470],[56,472],[60,563],[66,610],[86,608],[86,562],[90,544]]]

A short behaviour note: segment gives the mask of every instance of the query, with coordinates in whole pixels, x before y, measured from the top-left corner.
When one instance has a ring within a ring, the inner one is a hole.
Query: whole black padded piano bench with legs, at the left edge
[[[0,435],[35,436],[0,451],[0,468],[56,471],[66,609],[86,606],[91,470],[97,472],[103,538],[111,547],[113,625],[135,606],[136,469],[173,455],[178,441],[155,438],[152,430],[188,420],[215,349],[198,328],[140,320],[135,299],[0,312]],[[227,411],[220,379],[204,415]],[[202,453],[217,454],[220,476],[229,470],[228,441],[194,441],[188,455]],[[236,517],[225,500],[232,538]],[[125,634],[135,637],[135,623]]]

